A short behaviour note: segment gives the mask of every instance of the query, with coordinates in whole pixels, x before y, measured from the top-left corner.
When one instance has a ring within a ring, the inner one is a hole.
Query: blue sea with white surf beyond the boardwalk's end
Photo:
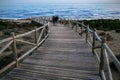
[[[120,19],[120,4],[14,4],[0,5],[0,18],[40,16],[77,19]]]

